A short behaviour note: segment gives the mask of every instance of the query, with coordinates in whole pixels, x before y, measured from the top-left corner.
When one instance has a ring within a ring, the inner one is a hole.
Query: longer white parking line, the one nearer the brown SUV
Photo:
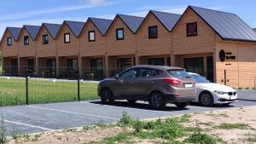
[[[97,115],[93,115],[93,114],[85,114],[85,113],[80,113],[80,112],[69,112],[69,111],[63,111],[63,110],[58,110],[58,109],[53,109],[53,108],[44,108],[44,107],[35,107],[35,106],[26,106],[26,107],[44,109],[44,110],[55,111],[55,112],[72,113],[72,114],[78,114],[78,115],[90,116],[90,117],[96,117],[96,118],[106,118],[106,119],[119,120],[118,118],[102,117],[102,116],[97,116]]]

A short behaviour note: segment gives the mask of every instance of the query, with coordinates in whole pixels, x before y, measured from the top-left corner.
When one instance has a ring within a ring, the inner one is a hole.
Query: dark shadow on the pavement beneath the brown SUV
[[[102,105],[102,101],[90,101],[90,103],[97,104],[97,105]],[[113,104],[109,106],[114,106],[114,107],[130,107],[130,108],[137,108],[137,109],[143,109],[143,110],[150,110],[150,111],[156,111],[159,112],[158,110],[152,109],[147,103],[129,103],[126,101],[114,101]],[[170,107],[167,106],[164,108],[163,111],[184,111],[184,110],[189,110],[189,108],[177,108],[177,107]]]

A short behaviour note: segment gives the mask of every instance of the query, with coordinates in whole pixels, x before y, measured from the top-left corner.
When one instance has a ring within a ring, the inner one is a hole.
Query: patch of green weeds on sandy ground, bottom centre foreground
[[[187,142],[203,144],[225,143],[215,135],[203,134],[199,127],[183,126],[183,123],[189,122],[190,117],[190,115],[186,114],[180,118],[158,119],[145,122],[135,120],[124,112],[123,118],[119,120],[118,125],[124,128],[132,128],[132,130],[130,129],[130,131],[124,131],[118,135],[105,138],[103,141],[92,143],[136,143],[136,140],[157,140],[156,143],[161,142],[163,144]],[[184,136],[187,137],[185,140],[178,140]]]

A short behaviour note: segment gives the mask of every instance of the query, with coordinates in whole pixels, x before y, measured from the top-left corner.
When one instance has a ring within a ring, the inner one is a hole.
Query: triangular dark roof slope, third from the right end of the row
[[[131,30],[132,33],[136,33],[137,29],[143,23],[144,18],[138,16],[131,16],[125,14],[117,14],[121,20],[125,23],[125,25]]]

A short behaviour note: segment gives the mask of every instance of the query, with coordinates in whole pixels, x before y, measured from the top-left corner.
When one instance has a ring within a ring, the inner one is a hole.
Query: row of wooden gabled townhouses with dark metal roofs
[[[236,14],[189,6],[182,15],[65,20],[7,27],[0,43],[5,75],[102,79],[134,65],[181,66],[212,82],[253,87],[256,32]]]

